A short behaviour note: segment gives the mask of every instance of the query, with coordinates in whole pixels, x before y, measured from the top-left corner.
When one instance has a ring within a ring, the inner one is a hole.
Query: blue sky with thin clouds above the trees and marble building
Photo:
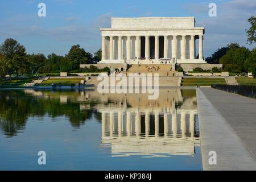
[[[38,16],[38,4],[46,4],[46,17]],[[216,3],[217,17],[208,15]],[[255,0],[9,0],[0,2],[0,42],[14,38],[27,53],[55,52],[65,55],[72,45],[86,51],[101,48],[101,27],[110,27],[112,17],[195,16],[196,26],[205,27],[204,56],[230,42],[247,48],[247,19],[256,14]]]

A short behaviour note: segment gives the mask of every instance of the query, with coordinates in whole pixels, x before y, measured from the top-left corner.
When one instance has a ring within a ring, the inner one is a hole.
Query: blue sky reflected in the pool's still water
[[[198,126],[196,126],[196,129]],[[6,137],[0,131],[0,169],[77,170],[200,170],[200,148],[192,156],[142,158],[112,157],[111,147],[101,147],[101,123],[88,119],[74,129],[68,117],[30,117],[24,131]],[[38,165],[38,151],[46,151],[47,165]]]

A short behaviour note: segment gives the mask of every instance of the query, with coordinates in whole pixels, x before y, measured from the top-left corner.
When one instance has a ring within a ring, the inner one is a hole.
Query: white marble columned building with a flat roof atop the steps
[[[101,28],[101,34],[99,64],[160,64],[171,59],[178,64],[206,63],[204,27],[195,27],[194,17],[112,18],[112,27]]]

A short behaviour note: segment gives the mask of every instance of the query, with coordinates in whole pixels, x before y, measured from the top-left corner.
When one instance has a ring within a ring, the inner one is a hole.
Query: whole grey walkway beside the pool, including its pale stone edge
[[[251,133],[256,126],[253,118],[256,101],[212,88],[200,88],[197,89],[197,107],[203,169],[256,170],[256,159],[250,151],[256,146],[255,133]],[[217,154],[216,165],[208,162],[210,151]]]

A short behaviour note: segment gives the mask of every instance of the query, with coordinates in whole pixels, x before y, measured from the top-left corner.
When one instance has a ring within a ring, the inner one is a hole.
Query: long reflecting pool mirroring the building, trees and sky
[[[46,152],[46,165],[38,152]],[[195,89],[0,91],[1,170],[201,170]]]

